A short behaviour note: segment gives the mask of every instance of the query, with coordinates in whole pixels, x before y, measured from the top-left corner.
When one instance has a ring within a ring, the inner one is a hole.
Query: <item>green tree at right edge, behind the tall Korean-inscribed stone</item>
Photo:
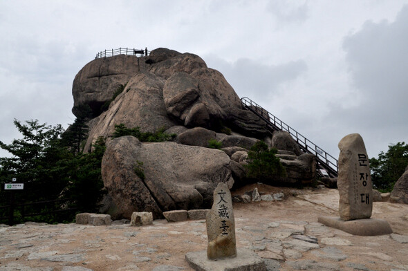
[[[390,144],[387,153],[381,151],[377,158],[370,159],[373,187],[380,191],[391,191],[408,165],[408,144]]]

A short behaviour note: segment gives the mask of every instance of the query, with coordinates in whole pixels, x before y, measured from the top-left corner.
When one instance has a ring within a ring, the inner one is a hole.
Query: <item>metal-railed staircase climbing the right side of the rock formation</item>
[[[300,149],[306,153],[312,153],[316,156],[317,169],[326,169],[326,172],[330,177],[337,177],[337,172],[339,169],[339,164],[337,159],[335,159],[330,154],[326,153],[323,149],[319,148],[316,144],[302,136],[300,133],[295,131],[285,122],[279,120],[265,109],[263,109],[259,104],[250,100],[248,97],[241,98],[241,104],[243,109],[252,111],[255,115],[259,116],[264,122],[266,122],[266,128],[270,131],[287,131],[290,136],[292,136]]]

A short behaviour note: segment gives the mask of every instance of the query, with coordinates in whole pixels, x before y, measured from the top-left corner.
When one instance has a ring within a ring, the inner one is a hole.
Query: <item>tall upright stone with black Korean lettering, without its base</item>
[[[370,218],[373,210],[373,185],[371,183],[369,156],[362,137],[352,133],[340,140],[338,147],[339,213],[343,221]]]

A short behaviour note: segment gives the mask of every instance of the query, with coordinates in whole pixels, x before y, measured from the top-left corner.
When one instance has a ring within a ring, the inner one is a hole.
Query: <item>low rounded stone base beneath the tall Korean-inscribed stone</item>
[[[343,221],[340,217],[319,216],[319,223],[328,227],[348,232],[353,235],[375,236],[383,234],[392,234],[391,227],[387,221],[376,218],[355,219],[352,221]]]

